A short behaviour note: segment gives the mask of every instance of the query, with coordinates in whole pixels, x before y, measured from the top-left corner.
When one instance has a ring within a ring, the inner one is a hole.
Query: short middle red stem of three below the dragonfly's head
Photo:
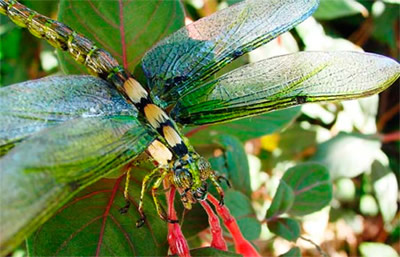
[[[200,204],[203,206],[208,215],[208,223],[210,224],[212,235],[211,247],[223,251],[228,251],[228,246],[226,245],[224,237],[222,236],[222,228],[219,224],[219,219],[217,215],[215,215],[214,211],[211,209],[210,205],[206,201],[200,201]]]

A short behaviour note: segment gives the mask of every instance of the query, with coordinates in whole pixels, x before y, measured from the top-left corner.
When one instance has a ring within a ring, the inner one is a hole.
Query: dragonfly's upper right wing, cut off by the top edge
[[[178,30],[142,60],[153,96],[175,103],[235,58],[302,22],[317,5],[318,0],[247,0]]]

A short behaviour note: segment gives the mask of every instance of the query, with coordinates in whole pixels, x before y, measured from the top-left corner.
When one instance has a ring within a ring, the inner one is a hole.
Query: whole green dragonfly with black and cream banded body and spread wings
[[[178,190],[186,209],[205,200],[208,181],[223,204],[224,178],[196,152],[182,127],[365,97],[400,76],[396,61],[376,54],[299,52],[212,77],[304,21],[317,6],[318,0],[247,0],[195,21],[144,55],[142,85],[84,35],[15,0],[0,0],[1,14],[94,75],[53,76],[0,90],[0,170],[6,181],[0,195],[14,192],[0,201],[6,210],[2,251],[17,246],[77,192],[143,152],[158,166],[142,181],[137,226],[145,221],[143,195],[153,179],[153,202],[167,222],[177,221],[157,197],[163,181]]]

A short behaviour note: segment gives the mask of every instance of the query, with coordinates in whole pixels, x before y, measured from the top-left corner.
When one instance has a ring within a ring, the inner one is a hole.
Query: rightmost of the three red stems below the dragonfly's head
[[[207,199],[215,206],[218,215],[222,218],[226,228],[231,233],[233,241],[235,243],[236,252],[242,254],[245,257],[261,256],[250,244],[250,242],[243,237],[243,234],[239,229],[236,219],[231,215],[229,209],[225,205],[219,205],[219,200],[217,200],[211,194],[208,194]]]

